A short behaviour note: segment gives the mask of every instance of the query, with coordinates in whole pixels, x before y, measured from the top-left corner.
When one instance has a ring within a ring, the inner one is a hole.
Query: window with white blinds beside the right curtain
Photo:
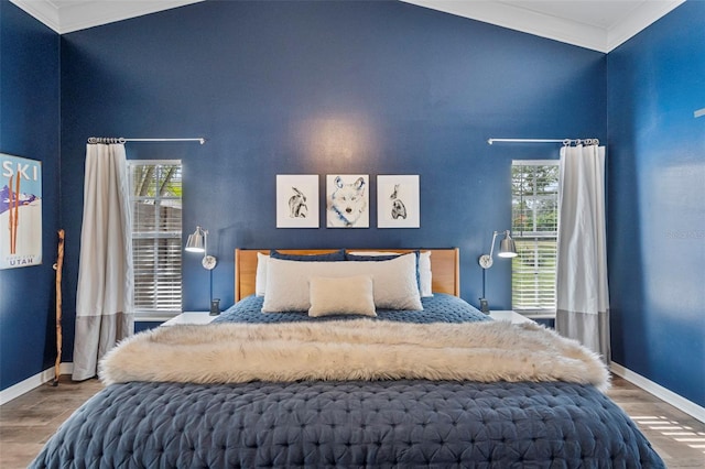
[[[511,183],[512,309],[555,315],[558,161],[513,161]]]

